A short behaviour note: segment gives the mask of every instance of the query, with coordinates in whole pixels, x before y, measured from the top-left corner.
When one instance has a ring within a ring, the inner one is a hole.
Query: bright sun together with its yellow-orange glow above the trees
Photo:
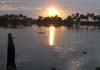
[[[56,6],[49,6],[45,7],[41,15],[44,17],[54,17],[57,15],[58,17],[66,18],[66,16],[68,16],[69,14],[71,14],[71,12],[68,10],[64,10],[63,8]]]

